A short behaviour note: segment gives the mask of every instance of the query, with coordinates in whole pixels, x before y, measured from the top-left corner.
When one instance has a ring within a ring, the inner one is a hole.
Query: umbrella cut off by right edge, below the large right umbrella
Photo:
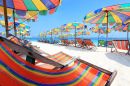
[[[130,22],[124,24],[120,24],[119,26],[113,26],[111,29],[119,32],[126,32],[127,31],[127,40],[129,40],[129,32],[130,32]]]

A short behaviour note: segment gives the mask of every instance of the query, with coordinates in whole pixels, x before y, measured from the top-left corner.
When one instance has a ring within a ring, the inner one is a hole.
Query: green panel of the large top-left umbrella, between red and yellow
[[[26,8],[28,9],[28,11],[37,11],[37,7],[34,5],[34,3],[32,2],[32,0],[23,0]]]

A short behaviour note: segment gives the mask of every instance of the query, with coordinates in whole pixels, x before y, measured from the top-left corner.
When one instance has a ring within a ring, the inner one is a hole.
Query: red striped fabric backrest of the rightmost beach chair
[[[113,40],[116,48],[122,50],[128,50],[129,40]]]

